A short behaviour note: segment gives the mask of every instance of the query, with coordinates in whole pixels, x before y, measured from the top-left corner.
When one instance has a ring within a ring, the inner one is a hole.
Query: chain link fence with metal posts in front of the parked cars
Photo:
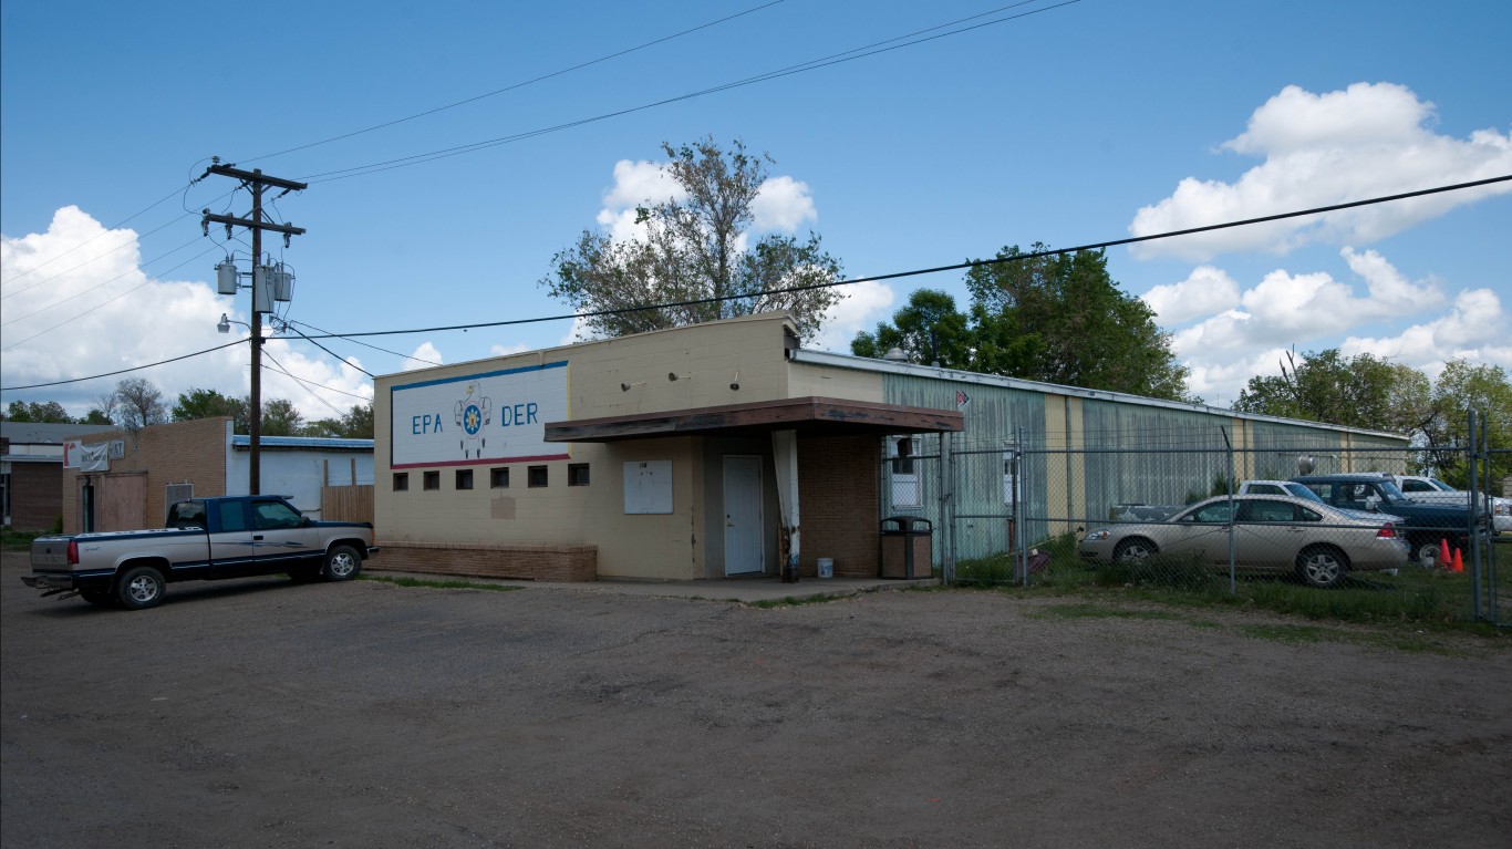
[[[1213,593],[1347,619],[1512,624],[1507,451],[1235,446],[1223,428],[1139,446],[889,440],[883,516],[928,519],[947,583]],[[1482,495],[1409,475],[1471,474]],[[1492,480],[1495,486],[1485,486]],[[1406,490],[1406,492],[1405,492]],[[1498,534],[1498,530],[1501,531]]]

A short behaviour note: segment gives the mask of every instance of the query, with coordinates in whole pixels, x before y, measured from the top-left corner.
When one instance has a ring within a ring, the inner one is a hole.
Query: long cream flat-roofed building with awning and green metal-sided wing
[[[966,516],[983,510],[956,528],[953,546],[971,554],[1012,545],[998,521],[1005,504],[1036,508],[1030,533],[1043,536],[1129,499],[1128,472],[1096,456],[1040,454],[1010,469],[1019,443],[1080,449],[1160,433],[1190,446],[1222,428],[1250,449],[1406,446],[1383,433],[804,351],[786,313],[383,375],[375,395],[378,566],[538,580],[777,575],[789,563],[815,575],[820,558],[836,575],[874,577],[881,521],[937,522],[947,495]],[[986,474],[951,483],[922,462],[953,449]],[[1246,463],[1263,465],[1255,457]],[[1275,477],[1243,477],[1261,471]],[[1179,499],[1205,475],[1176,465],[1139,489]]]

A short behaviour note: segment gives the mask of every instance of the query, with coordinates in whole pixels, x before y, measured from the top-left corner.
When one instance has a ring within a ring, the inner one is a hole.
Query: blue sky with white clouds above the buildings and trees
[[[119,377],[11,387],[206,350],[228,339],[215,331],[222,312],[248,319],[246,294],[215,294],[213,266],[230,248],[245,271],[249,239],[201,236],[198,210],[243,215],[249,201],[224,197],[233,185],[222,177],[184,188],[210,156],[310,183],[272,209],[308,233],[289,250],[278,239],[265,248],[295,269],[286,318],[311,334],[567,312],[537,285],[552,254],[659,191],[662,141],[712,135],[768,151],[779,180],[764,192],[765,227],[813,229],[850,277],[1512,174],[1504,2],[1004,6],[271,2],[246,21],[201,3],[6,0],[0,403],[59,400],[83,413]],[[986,26],[343,174],[963,18],[931,35]],[[479,97],[546,74],[556,76]],[[268,156],[278,151],[289,153]],[[1108,266],[1157,307],[1210,403],[1232,403],[1293,347],[1368,351],[1430,374],[1456,356],[1512,369],[1509,195],[1501,183],[1323,222],[1113,248]],[[816,347],[847,351],[857,330],[925,286],[966,304],[959,272],[863,283]],[[322,344],[389,374],[572,337],[572,322],[556,321],[364,339],[384,351]],[[265,398],[324,418],[372,395],[363,372],[308,342],[280,337],[268,350],[304,383],[269,372]],[[133,374],[171,400],[191,387],[243,393],[246,365],[239,347]]]

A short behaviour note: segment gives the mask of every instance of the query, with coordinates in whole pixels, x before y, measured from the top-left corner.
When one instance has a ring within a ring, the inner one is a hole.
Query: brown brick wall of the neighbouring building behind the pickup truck
[[[142,524],[159,527],[168,516],[166,487],[171,483],[192,483],[197,496],[227,495],[225,492],[225,422],[227,418],[195,419],[189,422],[174,422],[153,425],[139,430],[135,436],[125,431],[98,433],[85,437],[85,445],[98,445],[115,439],[125,442],[125,457],[110,460],[109,472],[80,472],[79,469],[64,469],[62,475],[62,510],[64,533],[77,534],[82,530],[83,516],[79,512],[79,490],[83,484],[80,478],[89,477],[95,483],[97,499],[109,492],[110,475],[145,475],[145,487],[141,499]],[[95,519],[109,512],[97,504]],[[98,531],[133,530],[95,527]]]

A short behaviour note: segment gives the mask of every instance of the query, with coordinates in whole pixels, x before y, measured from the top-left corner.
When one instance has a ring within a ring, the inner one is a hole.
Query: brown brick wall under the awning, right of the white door
[[[835,560],[838,578],[877,577],[881,440],[875,436],[798,437],[798,575]]]

